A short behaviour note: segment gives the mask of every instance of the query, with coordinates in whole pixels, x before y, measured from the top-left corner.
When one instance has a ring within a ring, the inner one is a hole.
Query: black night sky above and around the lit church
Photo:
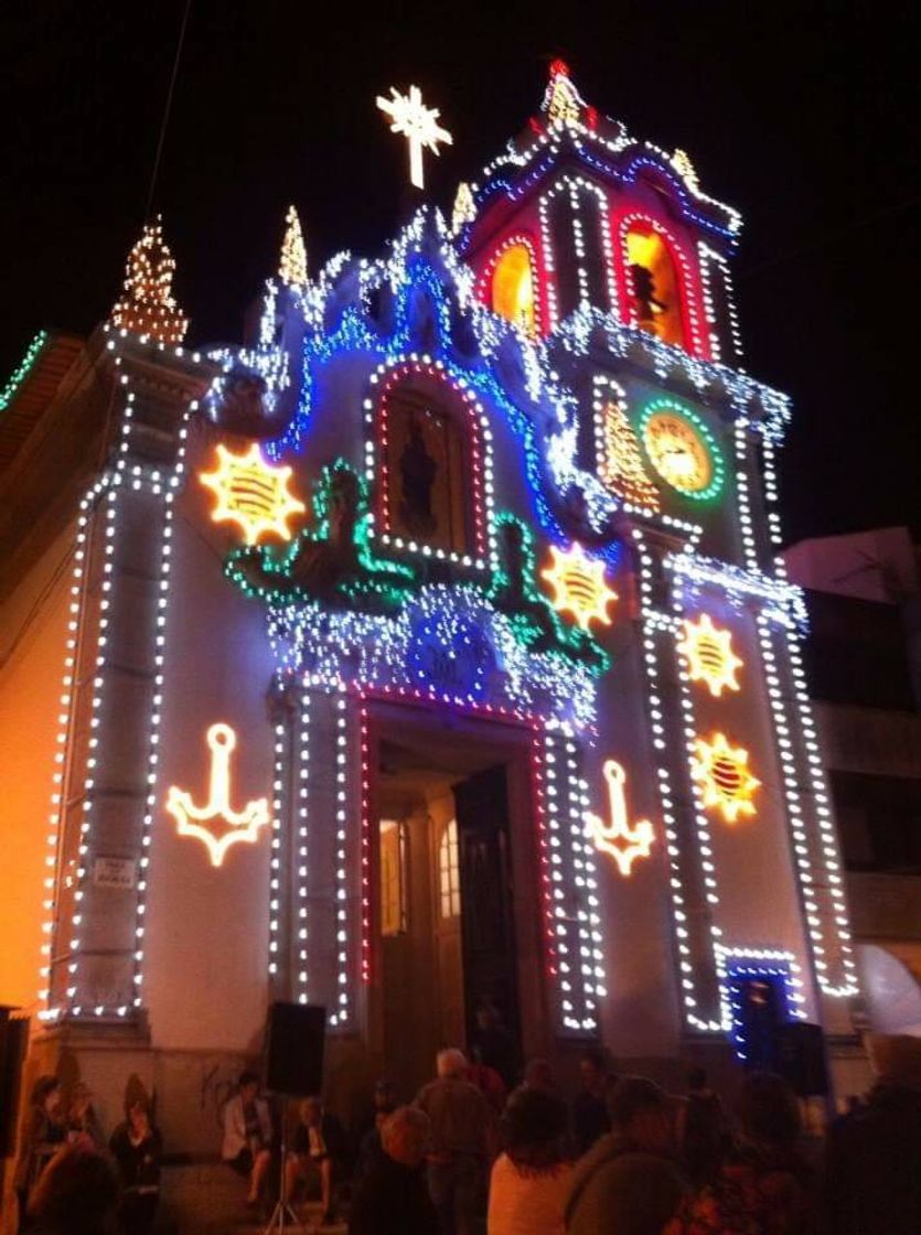
[[[144,219],[184,0],[46,0],[0,17],[0,385],[42,326],[86,332]],[[416,83],[454,146],[449,207],[563,56],[635,137],[691,156],[746,220],[746,366],[793,395],[785,532],[921,532],[921,46],[898,2],[378,5],[191,0],[154,209],[190,342],[240,338],[295,201],[311,267],[375,254],[405,143],[374,96]],[[479,14],[483,14],[480,16]],[[463,16],[462,16],[463,15]],[[486,16],[488,15],[488,16]]]

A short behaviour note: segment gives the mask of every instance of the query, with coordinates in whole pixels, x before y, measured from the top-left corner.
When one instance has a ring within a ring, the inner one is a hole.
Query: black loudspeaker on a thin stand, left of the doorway
[[[288,1200],[288,1099],[312,1098],[323,1083],[326,1008],[273,1003],[265,1024],[265,1088],[281,1099],[281,1189],[264,1235],[300,1226]]]

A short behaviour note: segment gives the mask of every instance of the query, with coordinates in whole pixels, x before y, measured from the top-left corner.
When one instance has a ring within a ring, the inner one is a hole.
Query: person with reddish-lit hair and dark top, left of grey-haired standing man
[[[399,1107],[380,1125],[381,1152],[352,1202],[349,1235],[438,1235],[438,1215],[422,1174],[428,1116]]]

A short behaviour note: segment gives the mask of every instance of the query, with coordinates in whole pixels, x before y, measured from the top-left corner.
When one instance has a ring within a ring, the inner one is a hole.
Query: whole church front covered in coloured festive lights
[[[563,1073],[852,1032],[740,228],[556,64],[451,221],[309,278],[291,216],[247,346],[116,312],[68,361],[21,550],[22,605],[67,561],[22,652],[57,736],[16,788],[33,1071],[69,1052],[112,1109],[132,1072],[204,1150],[278,999],[326,1007],[344,1108],[481,1007]]]

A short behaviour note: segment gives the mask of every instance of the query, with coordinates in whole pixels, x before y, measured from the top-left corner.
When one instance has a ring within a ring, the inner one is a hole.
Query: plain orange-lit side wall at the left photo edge
[[[0,608],[0,1004],[37,1009],[72,534]]]

